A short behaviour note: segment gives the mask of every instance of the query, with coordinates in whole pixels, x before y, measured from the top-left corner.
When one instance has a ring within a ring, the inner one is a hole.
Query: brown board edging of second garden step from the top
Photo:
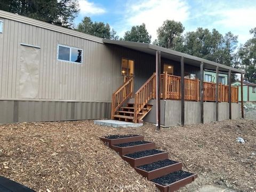
[[[145,143],[142,145],[130,146],[130,147],[112,146],[112,149],[114,149],[120,156],[125,154],[132,154],[138,151],[155,149],[155,148],[156,148],[155,143]]]

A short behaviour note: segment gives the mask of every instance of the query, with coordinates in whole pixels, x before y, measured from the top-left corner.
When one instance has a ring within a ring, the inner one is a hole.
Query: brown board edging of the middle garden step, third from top
[[[137,167],[140,165],[146,165],[149,163],[153,163],[153,162],[157,162],[159,160],[164,160],[168,158],[168,153],[164,152],[164,153],[159,153],[159,154],[155,154],[155,155],[149,155],[146,157],[140,157],[140,158],[131,158],[131,157],[126,157],[126,156],[122,156],[122,158],[130,163],[130,165],[132,167]]]

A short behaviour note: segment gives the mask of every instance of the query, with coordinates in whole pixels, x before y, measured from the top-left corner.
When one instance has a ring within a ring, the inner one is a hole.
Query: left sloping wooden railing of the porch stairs
[[[130,77],[112,95],[111,118],[114,118],[116,111],[123,103],[132,96],[133,77]]]

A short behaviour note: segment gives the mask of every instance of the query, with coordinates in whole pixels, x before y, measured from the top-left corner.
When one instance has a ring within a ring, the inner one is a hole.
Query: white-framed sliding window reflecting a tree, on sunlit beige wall
[[[74,63],[83,63],[83,50],[66,45],[58,45],[57,59]]]

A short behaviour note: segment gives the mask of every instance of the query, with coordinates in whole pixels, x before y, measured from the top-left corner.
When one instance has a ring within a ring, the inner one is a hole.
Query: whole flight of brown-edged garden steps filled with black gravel
[[[181,170],[181,162],[168,159],[166,151],[155,149],[155,143],[145,141],[141,135],[108,135],[100,139],[161,191],[178,190],[197,178],[197,174]]]

